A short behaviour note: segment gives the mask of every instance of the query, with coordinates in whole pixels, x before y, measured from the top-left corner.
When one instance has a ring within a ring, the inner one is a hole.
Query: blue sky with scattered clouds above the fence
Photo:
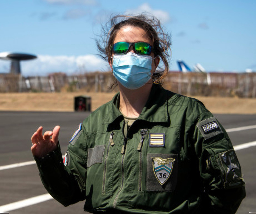
[[[255,0],[8,0],[0,1],[0,52],[38,59],[22,62],[23,75],[107,71],[94,38],[111,14],[149,12],[172,37],[170,70],[184,60],[208,72],[256,70]],[[0,60],[0,73],[10,63]]]

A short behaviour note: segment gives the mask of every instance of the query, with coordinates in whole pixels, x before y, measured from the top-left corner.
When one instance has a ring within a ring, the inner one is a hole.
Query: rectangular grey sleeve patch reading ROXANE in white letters
[[[198,122],[196,126],[205,140],[223,133],[215,117],[202,120]]]

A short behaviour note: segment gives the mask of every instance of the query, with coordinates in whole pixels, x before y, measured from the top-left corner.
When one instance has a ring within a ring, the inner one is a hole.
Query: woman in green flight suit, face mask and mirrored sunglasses
[[[227,133],[201,102],[160,86],[169,37],[145,16],[110,23],[98,47],[119,93],[80,124],[64,164],[59,126],[32,136],[47,191],[92,213],[235,213],[245,188]]]

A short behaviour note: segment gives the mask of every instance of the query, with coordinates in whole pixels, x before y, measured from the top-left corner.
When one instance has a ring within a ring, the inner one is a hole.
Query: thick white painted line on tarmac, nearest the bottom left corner
[[[11,204],[6,204],[3,206],[0,206],[0,212],[9,212],[12,210],[17,210],[22,207],[27,207],[33,204],[38,204],[47,200],[53,199],[53,197],[50,194],[44,194],[44,195],[39,195],[36,197],[28,198],[25,200],[17,201]]]

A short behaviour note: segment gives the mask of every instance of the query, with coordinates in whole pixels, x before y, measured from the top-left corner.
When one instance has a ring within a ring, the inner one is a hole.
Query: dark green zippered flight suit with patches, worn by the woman
[[[245,197],[230,139],[196,99],[153,84],[124,137],[119,94],[91,113],[68,145],[36,159],[47,191],[92,213],[235,213]]]

